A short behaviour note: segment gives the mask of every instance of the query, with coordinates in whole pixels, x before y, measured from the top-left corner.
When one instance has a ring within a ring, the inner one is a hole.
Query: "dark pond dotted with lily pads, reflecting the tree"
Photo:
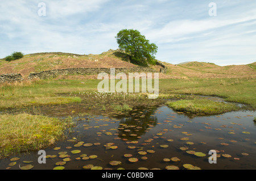
[[[96,109],[88,113],[81,103],[45,106],[40,113],[59,119],[71,116],[76,127],[67,140],[44,149],[46,164],[38,163],[37,152],[13,155],[11,158],[20,159],[12,170],[29,164],[42,170],[57,165],[68,170],[90,169],[92,165],[114,170],[186,169],[185,164],[203,170],[256,169],[254,111],[192,115],[158,103],[137,105],[127,112]],[[217,151],[216,164],[208,161],[210,150]],[[10,158],[1,159],[0,169],[12,162]]]

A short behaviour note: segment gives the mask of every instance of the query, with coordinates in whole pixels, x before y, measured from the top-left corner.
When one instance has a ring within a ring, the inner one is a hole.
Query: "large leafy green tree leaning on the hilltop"
[[[131,62],[142,66],[155,65],[154,54],[158,47],[154,43],[150,44],[138,30],[121,30],[115,38],[119,48],[130,55]]]

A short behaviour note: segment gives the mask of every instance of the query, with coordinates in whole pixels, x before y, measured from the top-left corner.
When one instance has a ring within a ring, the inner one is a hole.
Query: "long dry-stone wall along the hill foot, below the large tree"
[[[40,71],[38,73],[30,73],[28,75],[28,79],[39,78],[39,79],[47,79],[47,78],[55,78],[59,75],[94,75],[100,73],[107,73],[110,74],[110,69],[108,68],[71,68],[71,69],[57,69],[57,70],[46,70]],[[151,68],[144,68],[144,67],[133,67],[133,68],[115,68],[115,74],[117,73],[129,73],[129,72],[157,72],[155,69]]]

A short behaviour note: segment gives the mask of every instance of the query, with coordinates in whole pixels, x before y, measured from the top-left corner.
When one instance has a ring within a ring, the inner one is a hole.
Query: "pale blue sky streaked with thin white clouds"
[[[0,58],[100,54],[118,49],[123,29],[140,31],[158,46],[156,59],[171,64],[256,61],[255,0],[1,0]]]

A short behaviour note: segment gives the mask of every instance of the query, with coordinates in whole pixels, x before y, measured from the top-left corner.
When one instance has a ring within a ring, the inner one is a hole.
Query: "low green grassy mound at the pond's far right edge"
[[[167,102],[167,105],[175,111],[204,113],[205,115],[238,111],[240,109],[232,103],[214,102],[206,99],[177,100],[176,102]]]

